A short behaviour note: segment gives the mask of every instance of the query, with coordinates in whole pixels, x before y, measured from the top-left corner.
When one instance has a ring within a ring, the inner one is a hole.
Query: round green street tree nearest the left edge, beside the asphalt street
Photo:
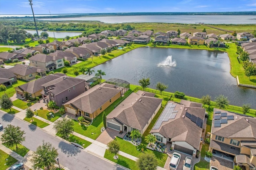
[[[25,140],[24,134],[25,131],[20,130],[20,127],[7,125],[7,127],[4,128],[4,134],[2,134],[1,140],[6,144],[7,147],[16,145],[16,148],[18,148],[18,144],[21,144],[22,141]]]

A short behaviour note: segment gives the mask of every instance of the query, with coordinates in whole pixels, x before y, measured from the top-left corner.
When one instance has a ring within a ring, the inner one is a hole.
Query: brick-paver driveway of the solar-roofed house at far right
[[[233,170],[234,162],[216,156],[212,156],[210,166],[215,166],[219,170]]]

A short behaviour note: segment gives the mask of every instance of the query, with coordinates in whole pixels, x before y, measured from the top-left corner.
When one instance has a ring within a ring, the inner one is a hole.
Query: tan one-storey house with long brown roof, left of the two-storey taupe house
[[[58,79],[59,77],[64,76],[65,74],[56,73],[51,75],[46,75],[34,81],[30,81],[26,84],[15,87],[15,91],[18,99],[25,99],[25,92],[29,94],[30,97],[35,98],[41,96],[41,91],[43,90],[42,84],[47,83],[49,81]]]

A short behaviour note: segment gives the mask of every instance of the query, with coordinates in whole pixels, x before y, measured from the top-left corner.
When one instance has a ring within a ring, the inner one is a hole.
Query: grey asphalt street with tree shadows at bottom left
[[[21,127],[26,132],[25,141],[22,145],[28,149],[35,151],[42,141],[50,142],[55,148],[58,149],[58,158],[61,165],[69,168],[70,170],[122,170],[120,166],[116,166],[102,158],[90,154],[81,148],[75,147],[68,142],[53,136],[40,128],[17,119],[9,114],[0,111],[0,123],[6,127],[8,124]]]

